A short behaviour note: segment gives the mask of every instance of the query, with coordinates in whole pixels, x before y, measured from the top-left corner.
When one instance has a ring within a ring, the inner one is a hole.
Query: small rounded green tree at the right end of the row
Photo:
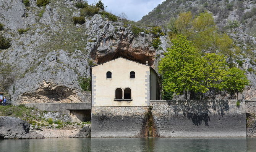
[[[245,71],[237,67],[228,69],[227,74],[222,79],[223,88],[229,93],[230,98],[234,99],[235,93],[243,92],[245,86],[249,85],[249,80],[245,75]]]

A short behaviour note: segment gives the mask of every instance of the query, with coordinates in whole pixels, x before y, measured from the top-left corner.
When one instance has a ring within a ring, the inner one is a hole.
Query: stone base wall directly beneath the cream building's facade
[[[143,137],[148,106],[92,107],[91,137]]]

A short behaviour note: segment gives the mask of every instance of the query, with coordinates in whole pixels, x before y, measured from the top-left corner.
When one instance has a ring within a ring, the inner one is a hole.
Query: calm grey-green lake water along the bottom
[[[0,152],[256,152],[256,138],[0,140]]]

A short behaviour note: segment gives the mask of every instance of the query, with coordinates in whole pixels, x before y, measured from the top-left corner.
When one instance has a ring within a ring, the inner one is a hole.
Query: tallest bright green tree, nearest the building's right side
[[[168,52],[159,63],[163,90],[184,93],[185,99],[188,91],[206,92],[207,88],[202,85],[203,64],[196,48],[182,35],[177,35],[177,39],[173,39],[172,43],[172,48],[167,49]]]

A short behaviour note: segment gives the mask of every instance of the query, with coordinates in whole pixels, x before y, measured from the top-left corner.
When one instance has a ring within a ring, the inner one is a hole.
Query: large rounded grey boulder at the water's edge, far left
[[[44,136],[29,131],[29,123],[15,117],[0,116],[0,139],[31,139]]]

